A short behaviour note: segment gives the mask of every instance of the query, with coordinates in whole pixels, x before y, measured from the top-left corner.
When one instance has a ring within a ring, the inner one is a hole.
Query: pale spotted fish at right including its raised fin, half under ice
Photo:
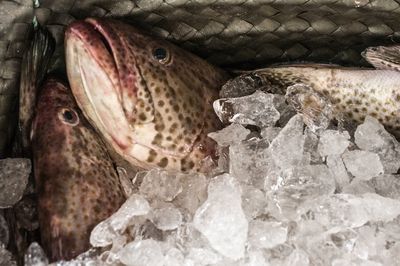
[[[356,125],[366,116],[372,116],[399,138],[399,51],[399,45],[367,48],[362,55],[374,68],[304,63],[245,71],[228,82],[229,87],[223,89],[222,94],[230,92],[245,78],[253,80],[246,83],[247,93],[260,89],[286,94],[289,87],[302,84],[326,98],[336,116],[345,122]]]

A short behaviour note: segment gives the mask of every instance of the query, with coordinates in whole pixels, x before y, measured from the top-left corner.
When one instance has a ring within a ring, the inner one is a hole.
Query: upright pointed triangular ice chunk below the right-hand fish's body
[[[303,127],[302,116],[295,115],[272,141],[271,155],[281,169],[303,164]]]

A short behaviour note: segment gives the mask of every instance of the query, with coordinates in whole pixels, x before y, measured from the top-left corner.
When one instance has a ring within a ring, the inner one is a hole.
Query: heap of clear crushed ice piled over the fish
[[[140,172],[136,190],[125,179],[96,248],[58,265],[399,265],[397,140],[372,117],[355,133],[335,126],[302,85],[283,96],[243,84],[253,94],[228,86],[214,103],[218,174]],[[26,262],[46,263],[37,244]]]

